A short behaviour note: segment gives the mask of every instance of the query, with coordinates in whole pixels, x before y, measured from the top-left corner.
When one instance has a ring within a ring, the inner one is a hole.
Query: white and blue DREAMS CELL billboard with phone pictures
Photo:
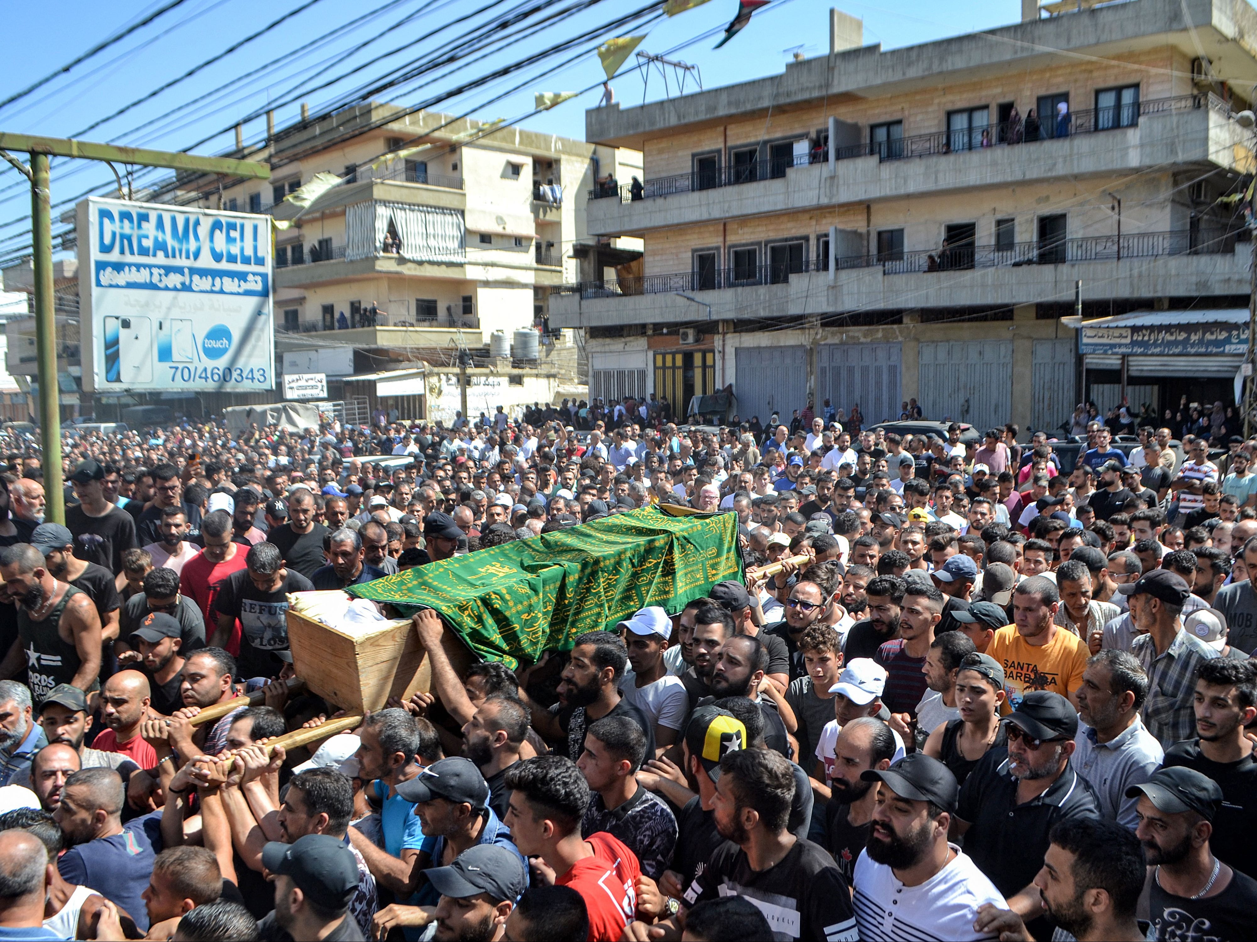
[[[98,197],[77,216],[85,389],[275,388],[268,216]]]

